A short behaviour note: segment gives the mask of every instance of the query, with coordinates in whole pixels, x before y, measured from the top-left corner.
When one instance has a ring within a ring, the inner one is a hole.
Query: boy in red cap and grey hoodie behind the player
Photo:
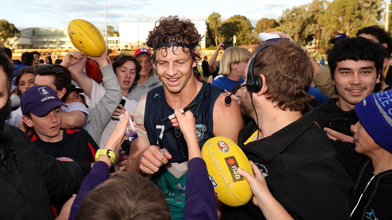
[[[140,62],[140,65],[142,65],[142,70],[140,70],[140,79],[137,80],[136,87],[127,94],[127,97],[137,102],[153,88],[162,86],[162,82],[155,75],[155,70],[152,68],[150,62],[151,52],[149,49],[144,47],[139,48],[135,51],[133,56],[135,56]]]

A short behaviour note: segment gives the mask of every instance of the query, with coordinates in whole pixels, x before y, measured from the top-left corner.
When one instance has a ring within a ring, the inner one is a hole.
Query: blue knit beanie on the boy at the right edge
[[[392,89],[368,95],[355,112],[370,137],[392,153]]]

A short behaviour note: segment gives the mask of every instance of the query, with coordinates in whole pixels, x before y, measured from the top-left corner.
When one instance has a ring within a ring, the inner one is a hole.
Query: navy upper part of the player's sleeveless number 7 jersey
[[[215,101],[222,92],[225,91],[203,81],[203,86],[191,102],[198,103],[191,111],[195,117],[196,134],[200,149],[208,139],[214,137],[212,112]],[[163,119],[173,113],[174,109],[167,104],[163,86],[154,88],[147,93],[144,127],[150,144],[158,145],[158,137],[161,137],[163,147],[172,155],[169,163],[181,163],[188,160],[188,147],[181,130],[179,127],[173,127],[170,120],[161,123]]]

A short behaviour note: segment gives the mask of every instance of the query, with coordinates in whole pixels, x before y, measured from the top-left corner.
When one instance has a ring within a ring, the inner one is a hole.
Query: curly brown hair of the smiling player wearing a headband
[[[154,46],[163,42],[180,42],[191,45],[191,48],[183,46],[182,50],[185,53],[189,52],[192,61],[198,63],[198,61],[201,60],[201,38],[202,36],[199,34],[191,20],[180,20],[177,15],[169,16],[167,18],[162,17],[155,22],[154,29],[149,31],[147,46],[154,51],[154,53],[150,56],[150,61],[151,63],[156,63],[156,50],[154,50]],[[174,47],[172,48],[172,51],[174,53]],[[165,50],[162,51],[162,56],[165,53],[167,54],[167,47],[165,47]]]

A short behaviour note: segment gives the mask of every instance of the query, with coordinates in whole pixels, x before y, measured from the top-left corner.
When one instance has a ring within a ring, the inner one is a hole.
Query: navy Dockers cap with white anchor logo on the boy
[[[22,114],[30,112],[37,116],[43,116],[58,106],[66,106],[57,97],[57,92],[48,86],[33,86],[27,89],[20,98]]]

